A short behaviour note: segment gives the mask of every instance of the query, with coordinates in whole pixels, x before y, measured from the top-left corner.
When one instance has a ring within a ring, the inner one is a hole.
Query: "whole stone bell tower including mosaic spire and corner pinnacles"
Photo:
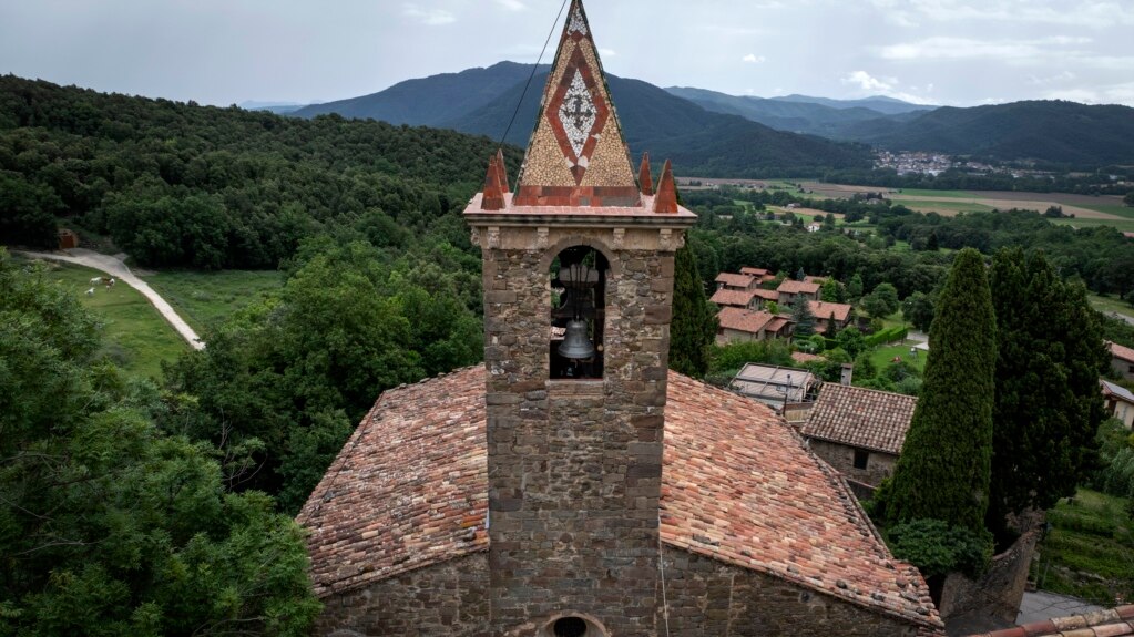
[[[573,0],[515,192],[465,210],[483,250],[492,635],[657,635],[674,252],[667,162],[636,181]],[[638,182],[640,181],[640,182]]]

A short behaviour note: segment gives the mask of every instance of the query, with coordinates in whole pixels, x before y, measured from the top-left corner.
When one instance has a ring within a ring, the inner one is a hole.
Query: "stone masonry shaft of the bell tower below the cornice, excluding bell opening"
[[[553,231],[542,247],[484,249],[493,632],[532,635],[569,612],[653,636],[676,245]],[[501,229],[500,244],[522,232]],[[602,380],[548,379],[550,263],[570,245],[611,265]]]

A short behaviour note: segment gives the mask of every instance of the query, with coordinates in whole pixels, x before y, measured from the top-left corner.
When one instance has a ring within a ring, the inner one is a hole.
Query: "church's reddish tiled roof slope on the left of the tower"
[[[484,367],[384,392],[299,511],[318,595],[486,550]]]

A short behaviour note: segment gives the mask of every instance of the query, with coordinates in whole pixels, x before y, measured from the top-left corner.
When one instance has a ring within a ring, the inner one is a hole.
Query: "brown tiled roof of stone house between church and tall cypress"
[[[897,456],[916,406],[913,396],[824,383],[803,435]]]

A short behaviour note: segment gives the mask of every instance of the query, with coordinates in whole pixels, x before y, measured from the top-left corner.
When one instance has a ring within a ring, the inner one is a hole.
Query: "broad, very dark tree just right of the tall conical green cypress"
[[[1042,254],[1002,249],[992,261],[997,387],[987,525],[1074,495],[1102,421],[1102,336],[1082,284],[1061,281]]]

